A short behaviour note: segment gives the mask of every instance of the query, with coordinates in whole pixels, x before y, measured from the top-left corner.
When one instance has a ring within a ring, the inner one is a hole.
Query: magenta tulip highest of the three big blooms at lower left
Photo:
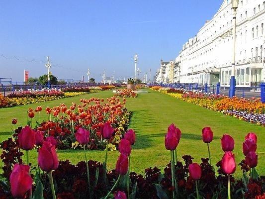
[[[30,126],[22,128],[21,132],[18,133],[18,143],[21,149],[26,151],[34,148],[35,145],[35,132]]]

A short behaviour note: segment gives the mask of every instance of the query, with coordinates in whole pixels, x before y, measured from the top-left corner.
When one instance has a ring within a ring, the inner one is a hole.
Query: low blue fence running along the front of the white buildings
[[[149,84],[149,86],[161,86],[164,88],[174,88],[174,89],[185,89],[188,91],[196,90],[202,91],[204,93],[213,93],[217,95],[225,95],[229,96],[229,88],[221,87],[218,83],[217,85],[198,85],[198,84]],[[261,98],[261,101],[265,103],[265,83],[261,83],[260,87],[250,87],[250,90],[243,90],[240,88],[236,88],[236,96],[242,98]],[[256,92],[254,92],[256,91]],[[257,92],[258,91],[258,92]]]

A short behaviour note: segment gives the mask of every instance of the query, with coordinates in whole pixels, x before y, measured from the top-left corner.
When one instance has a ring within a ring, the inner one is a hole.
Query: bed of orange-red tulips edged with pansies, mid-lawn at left
[[[37,122],[35,130],[42,131],[45,137],[54,137],[59,149],[75,149],[81,147],[76,142],[75,132],[83,126],[90,131],[89,149],[105,149],[107,145],[109,150],[116,150],[128,127],[131,115],[125,108],[125,101],[124,99],[121,102],[119,98],[112,97],[104,103],[103,99],[91,98],[81,99],[81,104],[78,105],[73,102],[69,108],[65,104],[47,107],[49,120]],[[108,142],[102,139],[100,133],[106,122],[114,128],[113,137],[111,136]]]

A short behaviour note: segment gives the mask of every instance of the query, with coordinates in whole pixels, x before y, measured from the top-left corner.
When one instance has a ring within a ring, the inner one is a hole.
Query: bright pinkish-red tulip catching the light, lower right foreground
[[[235,155],[226,151],[221,161],[221,168],[225,174],[233,174],[236,171]]]

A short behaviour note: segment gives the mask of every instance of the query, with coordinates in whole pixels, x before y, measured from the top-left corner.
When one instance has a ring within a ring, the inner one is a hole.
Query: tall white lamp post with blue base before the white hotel
[[[233,42],[232,42],[232,71],[230,79],[229,98],[236,95],[236,78],[235,78],[235,65],[236,65],[236,23],[237,23],[237,8],[239,0],[232,0],[232,14],[233,14]]]

